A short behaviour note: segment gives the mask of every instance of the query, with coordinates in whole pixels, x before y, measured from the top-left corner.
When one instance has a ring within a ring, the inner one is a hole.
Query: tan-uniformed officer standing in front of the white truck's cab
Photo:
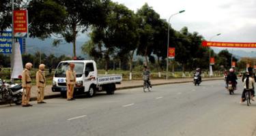
[[[67,99],[68,101],[74,100],[74,86],[76,84],[76,71],[74,71],[74,63],[70,63],[70,69],[66,71],[67,80]]]

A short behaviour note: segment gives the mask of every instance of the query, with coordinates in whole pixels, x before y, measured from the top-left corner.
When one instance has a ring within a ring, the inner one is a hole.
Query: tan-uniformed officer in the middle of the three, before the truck
[[[38,103],[44,102],[44,88],[46,86],[46,79],[44,75],[44,64],[39,65],[39,71],[36,73],[36,86],[38,88]]]

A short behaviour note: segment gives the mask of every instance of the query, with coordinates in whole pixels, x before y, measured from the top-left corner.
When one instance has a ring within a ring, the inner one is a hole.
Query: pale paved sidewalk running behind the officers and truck
[[[203,78],[203,81],[208,80],[223,80],[223,78]],[[186,83],[193,82],[193,78],[175,78],[170,80],[151,80],[153,86],[162,85],[162,84],[177,84],[177,83]],[[132,81],[123,81],[122,84],[117,84],[117,90],[128,89],[128,88],[137,88],[142,87],[142,80],[132,80]],[[52,92],[52,86],[46,86],[44,90],[45,99],[51,99],[55,97],[60,97],[59,92]],[[33,86],[31,89],[31,101],[35,101],[38,93],[36,87]]]

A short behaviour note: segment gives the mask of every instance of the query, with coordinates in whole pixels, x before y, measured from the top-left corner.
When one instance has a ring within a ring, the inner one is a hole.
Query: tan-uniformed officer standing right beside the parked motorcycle
[[[23,70],[22,73],[22,82],[23,82],[23,99],[22,99],[22,104],[23,107],[29,107],[32,106],[29,104],[29,100],[30,100],[30,90],[32,87],[32,80],[31,80],[31,73],[30,70],[32,69],[32,64],[31,63],[27,63],[25,65],[25,69]]]

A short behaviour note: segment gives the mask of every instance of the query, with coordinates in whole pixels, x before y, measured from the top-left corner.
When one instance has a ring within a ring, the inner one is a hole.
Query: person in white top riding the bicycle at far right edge
[[[251,100],[254,101],[253,97],[255,96],[255,92],[253,90],[254,88],[254,79],[252,77],[252,75],[250,75],[250,73],[248,71],[246,71],[246,75],[244,77],[244,91],[242,92],[242,97],[241,97],[241,102],[243,103],[245,101],[245,92],[246,90],[251,91]]]

